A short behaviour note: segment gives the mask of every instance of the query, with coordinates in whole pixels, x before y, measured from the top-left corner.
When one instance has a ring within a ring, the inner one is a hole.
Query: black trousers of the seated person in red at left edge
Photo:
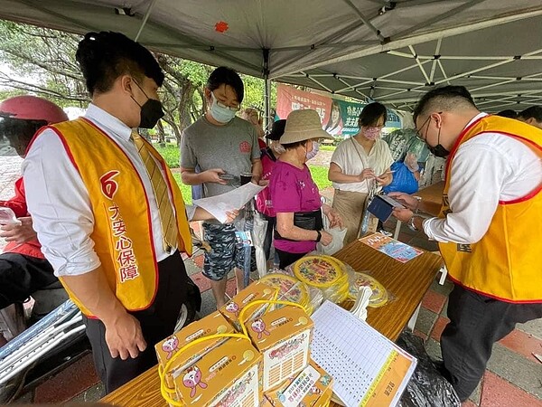
[[[19,253],[0,254],[0,309],[23,302],[34,292],[57,282],[45,259]]]

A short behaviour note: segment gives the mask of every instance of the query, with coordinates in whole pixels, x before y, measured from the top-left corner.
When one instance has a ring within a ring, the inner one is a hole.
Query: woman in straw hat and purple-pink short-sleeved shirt
[[[269,182],[271,201],[276,212],[275,249],[279,267],[332,242],[332,235],[322,230],[322,212],[331,227],[341,225],[341,218],[323,204],[318,187],[305,162],[318,153],[318,139],[332,138],[322,130],[320,116],[313,109],[294,110],[286,119],[280,144],[285,152],[276,161]]]

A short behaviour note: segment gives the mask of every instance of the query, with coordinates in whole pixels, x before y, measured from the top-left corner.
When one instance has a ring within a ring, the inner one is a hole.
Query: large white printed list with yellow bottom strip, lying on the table
[[[416,358],[349,311],[325,301],[314,312],[311,355],[335,380],[346,407],[395,406]]]

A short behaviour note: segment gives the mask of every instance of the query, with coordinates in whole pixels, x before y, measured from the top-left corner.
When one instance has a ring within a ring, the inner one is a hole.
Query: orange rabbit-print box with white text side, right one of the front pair
[[[264,356],[264,392],[301,372],[309,363],[313,321],[302,308],[285,306],[246,324],[248,336]]]

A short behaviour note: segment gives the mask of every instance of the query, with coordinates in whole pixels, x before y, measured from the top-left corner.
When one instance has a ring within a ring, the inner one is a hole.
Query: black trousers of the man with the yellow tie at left
[[[173,334],[182,304],[191,301],[188,298],[189,278],[178,251],[158,263],[158,273],[158,290],[153,304],[143,311],[131,312],[141,324],[147,343],[145,351],[135,359],[111,357],[104,324],[98,319],[83,318],[92,345],[94,364],[106,393],[113,392],[157,363],[154,345]]]

